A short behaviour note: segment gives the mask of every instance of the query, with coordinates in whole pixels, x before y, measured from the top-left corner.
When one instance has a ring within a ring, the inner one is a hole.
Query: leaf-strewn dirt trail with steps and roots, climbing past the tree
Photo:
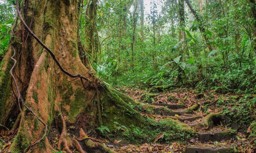
[[[244,152],[248,147],[249,140],[246,139],[245,134],[228,128],[223,123],[222,108],[208,109],[207,113],[202,110],[207,99],[205,94],[195,94],[193,91],[147,93],[134,91],[131,88],[123,88],[122,91],[140,102],[164,106],[174,112],[159,112],[159,114],[141,112],[141,114],[157,121],[170,118],[186,123],[195,129],[195,135],[184,138],[181,140],[183,142],[169,145],[147,143],[141,146],[127,145],[117,148],[118,152],[235,153]]]

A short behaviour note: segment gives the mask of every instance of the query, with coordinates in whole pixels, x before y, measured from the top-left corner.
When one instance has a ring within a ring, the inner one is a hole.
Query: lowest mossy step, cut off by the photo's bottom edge
[[[214,145],[196,145],[188,146],[185,153],[235,153],[234,147],[214,146]]]

